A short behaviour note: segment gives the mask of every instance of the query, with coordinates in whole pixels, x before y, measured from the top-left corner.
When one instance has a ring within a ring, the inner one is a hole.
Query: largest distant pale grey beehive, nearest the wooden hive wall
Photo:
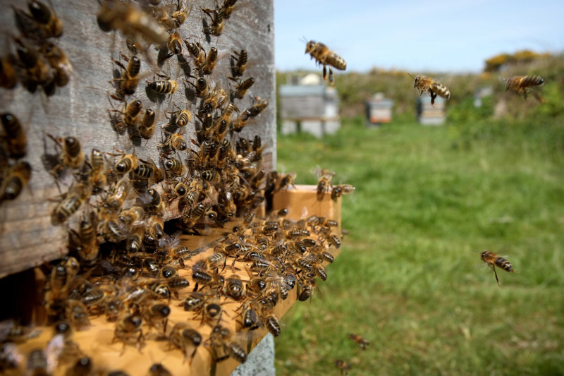
[[[341,128],[338,116],[338,95],[334,87],[328,87],[317,75],[307,75],[300,85],[281,85],[280,116],[283,134],[298,131],[309,132],[317,137],[335,133]]]

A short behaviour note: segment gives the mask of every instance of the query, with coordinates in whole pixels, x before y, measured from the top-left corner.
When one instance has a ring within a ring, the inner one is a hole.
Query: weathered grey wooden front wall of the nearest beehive
[[[169,1],[163,1],[167,5]],[[176,4],[176,1],[172,1]],[[0,205],[0,277],[18,272],[61,257],[66,252],[67,225],[75,226],[79,213],[73,215],[68,224],[53,226],[50,214],[57,204],[60,195],[54,178],[44,165],[45,154],[55,154],[54,142],[45,134],[55,136],[73,135],[78,137],[85,152],[92,148],[104,152],[133,152],[138,157],[151,158],[155,162],[160,159],[157,145],[162,142],[160,126],[164,125],[166,111],[172,111],[173,104],[192,113],[197,112],[199,101],[188,95],[183,82],[183,70],[178,59],[173,56],[156,70],[150,66],[145,55],[142,59],[140,81],[135,95],[128,100],[140,99],[144,109],[157,111],[157,131],[154,136],[141,145],[134,147],[127,133],[118,135],[111,126],[109,110],[121,109],[123,104],[109,101],[108,93],[114,91],[109,81],[114,78],[116,64],[112,59],[119,59],[120,52],[130,56],[125,45],[125,38],[118,32],[103,32],[97,25],[96,15],[99,11],[98,1],[52,1],[61,20],[64,32],[61,38],[53,42],[61,47],[73,65],[71,82],[65,87],[57,87],[54,95],[47,97],[41,90],[30,93],[22,85],[14,90],[0,89],[0,111],[11,112],[20,119],[28,136],[27,156],[25,160],[32,165],[32,178],[23,193],[14,201],[2,202]],[[212,1],[190,1],[192,10],[188,19],[180,27],[179,32],[184,40],[199,41],[206,51],[214,46],[219,50],[219,62],[209,82],[212,87],[218,83],[226,90],[233,89],[234,83],[228,80],[231,75],[230,54],[233,49],[246,49],[249,56],[247,71],[243,78],[252,76],[255,85],[242,100],[235,99],[239,109],[244,110],[252,105],[250,97],[267,98],[270,105],[259,117],[249,121],[240,136],[252,138],[260,135],[263,141],[264,160],[266,166],[276,165],[276,106],[275,106],[275,68],[274,68],[274,6],[273,1],[240,0],[235,6],[231,18],[226,20],[220,37],[212,36],[206,40],[202,32],[202,19],[209,18],[200,8],[214,8]],[[0,54],[15,54],[15,46],[11,35],[18,35],[11,6],[27,11],[25,1],[4,0],[0,13]],[[157,61],[158,51],[151,47],[148,55]],[[183,44],[183,56],[190,62],[190,54]],[[179,84],[178,91],[171,97],[154,102],[154,95],[147,97],[146,80],[152,80],[154,73],[170,75]],[[192,74],[195,75],[193,68]],[[194,79],[191,79],[194,81]],[[186,127],[185,139],[195,132],[197,123],[192,117]],[[237,137],[237,135],[235,135]],[[192,136],[192,138],[194,138]],[[234,140],[233,140],[234,141]],[[185,154],[183,159],[185,159]],[[108,156],[108,164],[114,163],[114,157]],[[62,179],[61,190],[71,185],[72,176]],[[162,190],[161,186],[155,187]],[[169,208],[166,219],[176,215],[174,208]]]

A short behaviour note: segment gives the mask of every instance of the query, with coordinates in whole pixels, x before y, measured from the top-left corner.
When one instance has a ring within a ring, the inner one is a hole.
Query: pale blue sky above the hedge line
[[[479,72],[492,56],[564,51],[564,1],[274,0],[278,71],[312,70],[323,42],[347,71]]]

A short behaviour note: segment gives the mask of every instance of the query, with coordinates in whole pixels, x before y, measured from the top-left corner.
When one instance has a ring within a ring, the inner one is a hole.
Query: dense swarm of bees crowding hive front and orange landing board
[[[107,115],[118,136],[128,134],[130,147],[87,149],[78,136],[43,133],[45,155],[52,157],[45,168],[60,191],[53,198],[51,224],[68,229],[68,255],[40,268],[47,281],[43,305],[47,324],[54,327],[52,339],[27,354],[10,345],[16,335],[1,339],[2,370],[125,375],[100,370],[73,340],[73,332],[104,319],[114,328],[112,343],[121,353],[164,340],[188,365],[198,353],[211,354],[213,363],[227,358],[244,363],[248,350],[242,332],[280,335],[281,301],[290,293],[299,301],[311,299],[319,279],[328,277],[332,250],[341,246],[332,219],[293,221],[286,210],[258,214],[266,198],[293,185],[295,174],[269,171],[261,137],[241,133],[269,106],[269,99],[258,96],[245,105],[255,89],[255,78],[247,74],[252,71],[247,50],[229,49],[226,78],[233,84],[220,85],[216,67],[225,55],[215,46],[204,49],[197,37],[182,39],[181,26],[192,14],[188,2],[154,3],[101,1],[95,16],[101,30],[125,39],[118,58],[111,59],[115,70],[107,78]],[[225,0],[201,9],[204,35],[219,38],[228,29],[226,21],[238,14],[235,3]],[[35,20],[37,6],[43,4],[30,0],[31,16],[14,8],[23,25],[14,44],[20,56],[27,48],[39,62],[26,68],[24,58],[2,59],[3,87],[16,85],[8,74],[11,66],[16,83],[32,81],[45,92],[71,78],[68,61],[56,67],[54,62],[64,56],[54,44],[62,23],[51,8],[44,11],[49,22]],[[171,65],[177,58],[183,80],[155,65]],[[147,67],[151,73],[145,73]],[[194,104],[173,99],[183,83]],[[168,109],[136,97],[140,87],[154,102],[168,99]],[[13,200],[30,179],[30,165],[20,160],[27,136],[15,116],[6,113],[1,119],[6,133],[1,152],[8,161],[2,162],[1,198]],[[188,136],[190,126],[195,132]],[[159,135],[158,160],[141,157],[144,140]],[[165,222],[169,212],[177,218]],[[223,231],[223,238],[207,253],[180,242],[180,234],[206,233],[211,226]],[[178,310],[188,320],[170,319]],[[228,320],[235,322],[236,332]],[[170,374],[161,363],[148,372]]]

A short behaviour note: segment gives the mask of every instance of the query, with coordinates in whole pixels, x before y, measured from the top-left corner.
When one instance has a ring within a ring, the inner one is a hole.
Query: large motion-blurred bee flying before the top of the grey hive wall
[[[131,4],[106,0],[97,15],[99,27],[104,31],[119,30],[134,40],[146,40],[161,46],[168,40],[168,33],[159,22]]]

